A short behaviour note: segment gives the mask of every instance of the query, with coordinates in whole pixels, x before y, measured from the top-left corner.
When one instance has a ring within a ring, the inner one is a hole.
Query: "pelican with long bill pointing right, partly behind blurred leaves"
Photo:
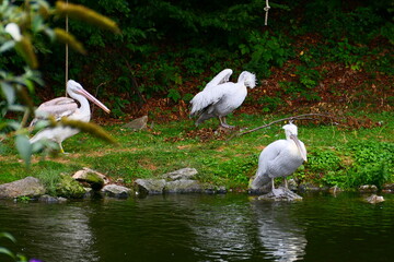
[[[109,112],[109,109],[106,106],[104,106],[100,100],[85,91],[81,84],[73,80],[69,80],[67,82],[67,93],[73,99],[69,97],[58,97],[40,104],[35,111],[36,118],[33,119],[31,127],[39,119],[45,119],[48,116],[55,117],[56,120],[60,120],[62,117],[68,117],[72,120],[89,122],[91,119],[91,110],[88,99],[96,104],[104,111]],[[78,107],[76,100],[78,100],[80,107]],[[61,142],[77,133],[79,133],[79,130],[70,127],[59,126],[55,128],[46,128],[36,133],[30,142],[33,144],[39,140],[55,141],[59,144],[60,152],[65,153]]]

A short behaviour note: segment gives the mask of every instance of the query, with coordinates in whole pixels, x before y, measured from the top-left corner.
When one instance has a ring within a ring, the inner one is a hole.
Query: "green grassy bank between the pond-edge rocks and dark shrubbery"
[[[359,112],[356,117],[361,116]],[[282,117],[242,114],[231,116],[229,122],[251,129]],[[309,151],[309,162],[293,177],[299,182],[343,188],[394,181],[393,117],[393,112],[368,114],[368,118],[379,122],[370,129],[296,122],[299,138]],[[257,168],[260,151],[285,138],[283,123],[230,140],[229,133],[215,134],[217,120],[199,128],[192,120],[149,124],[151,129],[139,132],[121,124],[105,127],[118,141],[117,145],[80,133],[63,142],[68,154],[53,157],[36,154],[30,168],[24,166],[11,142],[2,142],[0,183],[26,176],[54,181],[60,172],[72,174],[89,167],[130,186],[137,178],[154,178],[178,168],[195,167],[200,181],[244,190]]]

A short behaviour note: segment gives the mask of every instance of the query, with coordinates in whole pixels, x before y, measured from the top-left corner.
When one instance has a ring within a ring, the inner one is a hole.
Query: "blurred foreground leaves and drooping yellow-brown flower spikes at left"
[[[27,166],[34,152],[55,145],[53,141],[31,144],[28,134],[33,129],[40,130],[45,127],[61,124],[78,128],[82,132],[92,133],[101,139],[105,136],[108,142],[111,140],[114,142],[114,139],[99,126],[66,117],[55,121],[51,116],[38,121],[32,128],[26,128],[26,126],[35,111],[32,99],[35,85],[44,83],[37,70],[39,66],[37,51],[45,53],[50,50],[44,47],[43,37],[51,41],[65,43],[79,53],[85,53],[82,44],[72,34],[51,27],[47,21],[70,16],[70,19],[91,23],[113,33],[120,33],[116,23],[85,7],[62,1],[57,1],[56,7],[50,7],[45,0],[34,2],[26,0],[19,4],[4,0],[0,3],[0,53],[5,53],[0,60],[0,66],[4,67],[0,69],[0,142],[4,139],[14,139],[15,147]],[[23,115],[23,118],[3,119],[9,112]]]

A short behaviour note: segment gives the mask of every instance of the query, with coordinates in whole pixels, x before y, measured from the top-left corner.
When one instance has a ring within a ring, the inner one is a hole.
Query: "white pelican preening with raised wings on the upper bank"
[[[221,71],[193,97],[190,117],[199,116],[196,126],[207,119],[218,117],[221,127],[234,128],[225,122],[225,116],[242,105],[247,95],[246,87],[256,86],[256,75],[244,71],[236,83],[227,82],[231,74],[231,69]]]

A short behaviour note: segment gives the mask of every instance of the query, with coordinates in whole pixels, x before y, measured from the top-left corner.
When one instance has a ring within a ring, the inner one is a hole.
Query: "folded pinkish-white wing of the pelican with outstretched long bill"
[[[53,116],[56,120],[71,116],[78,109],[78,104],[69,97],[58,97],[39,105],[35,110],[35,118],[31,122],[33,127],[38,120]]]

